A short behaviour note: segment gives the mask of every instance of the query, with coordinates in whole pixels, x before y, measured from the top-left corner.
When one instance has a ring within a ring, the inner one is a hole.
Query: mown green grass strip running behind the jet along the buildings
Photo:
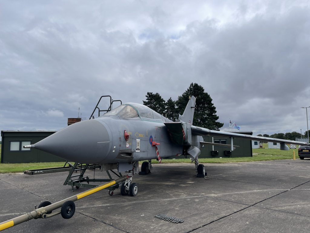
[[[293,151],[295,151],[296,159],[298,157],[298,149],[290,149],[284,151],[280,149],[264,148],[253,149],[253,157],[236,157],[236,158],[200,158],[199,163],[226,163],[226,162],[251,162],[251,161],[268,161],[278,159],[292,159]],[[0,145],[1,149],[1,145]],[[1,155],[0,155],[1,156]],[[0,157],[1,158],[1,157]],[[143,161],[140,161],[141,164]],[[158,163],[156,159],[152,163]],[[178,159],[163,159],[162,163],[191,163],[189,159],[180,156]],[[0,163],[0,173],[7,172],[23,172],[24,170],[43,169],[51,167],[63,167],[64,162],[39,162],[39,163]]]

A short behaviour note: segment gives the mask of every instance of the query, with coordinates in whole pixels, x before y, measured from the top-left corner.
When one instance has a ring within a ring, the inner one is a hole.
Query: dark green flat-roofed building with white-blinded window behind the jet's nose
[[[2,131],[1,163],[62,162],[55,155],[30,148],[25,145],[35,144],[52,135],[55,131]]]

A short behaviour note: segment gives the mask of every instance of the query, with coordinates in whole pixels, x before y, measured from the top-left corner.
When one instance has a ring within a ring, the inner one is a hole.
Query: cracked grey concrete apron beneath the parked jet
[[[194,164],[155,164],[151,174],[134,176],[136,197],[102,190],[76,201],[71,219],[33,219],[3,232],[309,232],[310,160],[205,166],[203,179],[195,177]],[[62,185],[67,174],[0,174],[0,222],[87,190],[72,193]],[[95,171],[95,178],[104,177]]]

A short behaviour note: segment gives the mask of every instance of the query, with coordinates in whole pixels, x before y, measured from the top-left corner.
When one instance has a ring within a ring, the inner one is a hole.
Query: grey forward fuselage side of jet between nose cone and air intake
[[[162,122],[117,119],[118,117],[100,117],[100,122],[108,131],[108,149],[102,151],[102,159],[94,163],[134,162],[157,158],[157,145],[161,158],[182,154],[183,146],[171,143],[166,126]],[[126,141],[124,130],[130,135]],[[100,144],[98,141],[97,144]],[[162,152],[162,153],[161,153]]]

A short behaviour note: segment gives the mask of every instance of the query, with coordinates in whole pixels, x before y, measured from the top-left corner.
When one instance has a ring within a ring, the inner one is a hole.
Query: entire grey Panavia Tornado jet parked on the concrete
[[[221,132],[193,126],[196,98],[189,98],[183,115],[177,122],[170,121],[149,107],[138,103],[124,103],[96,119],[81,121],[24,148],[36,148],[47,153],[80,163],[101,164],[102,170],[126,171],[127,180],[121,186],[121,194],[135,196],[138,186],[132,176],[142,163],[140,174],[152,170],[151,159],[176,155],[189,155],[195,162],[198,177],[205,176],[203,164],[198,163],[200,148],[206,144],[228,146],[234,150],[233,139],[243,138],[286,144],[307,145],[304,142]],[[204,142],[202,136],[230,138],[230,144]]]

